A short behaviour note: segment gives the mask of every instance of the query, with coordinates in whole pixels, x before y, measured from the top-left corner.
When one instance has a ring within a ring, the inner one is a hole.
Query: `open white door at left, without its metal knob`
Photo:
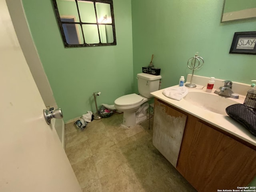
[[[0,192],[81,192],[0,0]]]

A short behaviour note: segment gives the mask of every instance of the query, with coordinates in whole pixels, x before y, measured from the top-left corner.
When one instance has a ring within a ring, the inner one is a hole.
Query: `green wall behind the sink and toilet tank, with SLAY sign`
[[[187,61],[199,52],[205,63],[194,74],[250,84],[256,55],[229,50],[234,32],[256,31],[256,20],[220,23],[222,6],[223,0],[132,0],[134,77],[154,54],[162,88],[173,86],[192,73]]]

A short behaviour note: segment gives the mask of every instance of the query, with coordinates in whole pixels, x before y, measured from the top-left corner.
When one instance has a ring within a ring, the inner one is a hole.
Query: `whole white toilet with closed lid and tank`
[[[148,100],[153,96],[151,92],[159,90],[160,75],[146,73],[137,74],[139,95],[133,93],[121,96],[114,102],[117,110],[124,112],[123,125],[134,126],[147,119],[146,112],[149,104]]]

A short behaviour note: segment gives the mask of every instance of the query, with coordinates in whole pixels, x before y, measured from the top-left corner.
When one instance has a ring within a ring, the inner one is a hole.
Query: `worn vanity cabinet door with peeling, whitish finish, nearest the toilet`
[[[187,116],[155,100],[153,145],[176,167]]]

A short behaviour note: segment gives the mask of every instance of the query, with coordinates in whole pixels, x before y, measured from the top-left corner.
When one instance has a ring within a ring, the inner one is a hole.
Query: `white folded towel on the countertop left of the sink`
[[[171,99],[175,99],[175,100],[181,100],[184,96],[186,96],[186,94],[188,94],[188,88],[186,88],[185,86],[182,87],[169,87],[164,89],[163,94],[166,97],[169,97]]]

